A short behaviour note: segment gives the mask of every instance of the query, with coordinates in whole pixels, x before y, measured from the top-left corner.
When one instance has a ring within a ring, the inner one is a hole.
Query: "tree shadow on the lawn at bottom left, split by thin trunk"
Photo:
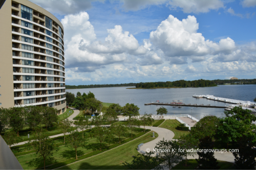
[[[46,159],[46,166],[50,165],[50,164],[54,164],[57,163],[56,159],[54,159],[54,157],[48,157]],[[42,167],[44,169],[44,158],[43,157],[38,157],[38,158],[34,158],[29,162],[26,162],[27,165],[29,165],[30,167],[33,168],[40,168]]]

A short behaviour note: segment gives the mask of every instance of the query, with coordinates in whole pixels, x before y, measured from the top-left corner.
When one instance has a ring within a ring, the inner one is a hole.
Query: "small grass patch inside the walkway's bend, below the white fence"
[[[176,127],[179,124],[180,123],[178,122],[178,120],[169,119],[169,120],[165,120],[164,123],[161,126],[159,126],[159,127],[160,128],[169,129],[169,130],[173,131],[174,134],[175,134],[174,139],[179,139],[181,135],[187,135],[189,133],[187,131],[177,130]]]

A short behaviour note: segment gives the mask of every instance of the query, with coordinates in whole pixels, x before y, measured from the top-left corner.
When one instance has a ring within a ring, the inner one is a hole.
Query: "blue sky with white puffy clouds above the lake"
[[[31,1],[62,22],[67,85],[255,78],[255,0]]]

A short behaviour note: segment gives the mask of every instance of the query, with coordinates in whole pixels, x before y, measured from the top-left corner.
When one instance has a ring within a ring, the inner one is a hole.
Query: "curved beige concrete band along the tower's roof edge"
[[[10,1],[10,0],[7,0],[7,1]],[[49,18],[51,18],[52,20],[57,22],[58,25],[61,27],[61,29],[64,31],[61,22],[53,14],[51,14],[50,12],[45,10],[44,8],[41,8],[38,5],[35,5],[34,3],[31,3],[30,1],[27,1],[27,0],[14,0],[13,2],[17,2],[19,4],[25,5],[25,6],[29,7],[29,8],[32,8],[35,11],[38,11],[38,12],[48,16]],[[62,2],[60,1],[60,3],[62,3]],[[63,3],[65,3],[65,2],[63,2]]]

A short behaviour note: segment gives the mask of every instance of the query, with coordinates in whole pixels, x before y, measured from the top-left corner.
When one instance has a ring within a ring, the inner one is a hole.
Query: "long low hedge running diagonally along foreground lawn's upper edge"
[[[77,157],[77,160],[75,158],[71,158],[69,160],[66,160],[66,161],[62,161],[62,162],[58,162],[58,163],[55,163],[55,164],[52,164],[52,165],[49,165],[49,166],[46,166],[47,169],[55,169],[55,168],[58,168],[58,167],[61,167],[61,166],[65,166],[65,165],[68,165],[70,163],[74,163],[76,161],[79,161],[79,160],[82,160],[82,159],[86,159],[86,158],[89,158],[89,157],[92,157],[94,155],[98,155],[102,152],[105,152],[105,151],[108,151],[108,150],[111,150],[113,148],[116,148],[116,147],[119,147],[120,145],[124,144],[124,143],[127,143],[135,138],[138,138],[144,134],[146,134],[147,132],[150,132],[151,130],[150,129],[147,129],[145,132],[140,132],[136,135],[134,135],[134,138],[127,138],[127,139],[124,139],[121,141],[121,143],[115,143],[115,144],[112,144],[110,145],[109,147],[107,148],[103,148],[101,151],[97,150],[97,151],[93,151],[93,152],[90,152],[88,154],[85,154],[85,155],[82,155],[82,156],[79,156]],[[38,169],[42,169],[44,167],[41,167],[41,168],[38,168]]]

